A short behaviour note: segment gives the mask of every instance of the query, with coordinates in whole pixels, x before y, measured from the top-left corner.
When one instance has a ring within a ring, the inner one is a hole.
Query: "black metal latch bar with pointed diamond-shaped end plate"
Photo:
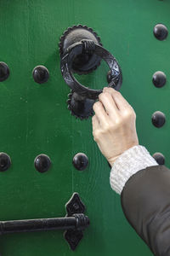
[[[85,206],[79,195],[73,193],[70,201],[65,204],[64,218],[35,218],[22,220],[0,221],[0,235],[14,232],[32,232],[45,230],[65,230],[65,240],[75,250],[82,239],[82,230],[89,225],[89,218],[85,216]]]

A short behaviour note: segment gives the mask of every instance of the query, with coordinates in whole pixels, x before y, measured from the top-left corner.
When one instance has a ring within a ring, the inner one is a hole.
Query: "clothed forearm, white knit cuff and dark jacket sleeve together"
[[[110,180],[129,224],[154,255],[170,256],[170,170],[139,145],[117,158]]]

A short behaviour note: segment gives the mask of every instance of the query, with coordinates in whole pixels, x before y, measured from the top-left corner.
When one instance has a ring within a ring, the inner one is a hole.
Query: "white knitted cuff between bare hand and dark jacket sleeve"
[[[158,164],[144,146],[137,145],[127,149],[115,160],[111,168],[111,188],[121,195],[129,177],[148,166],[158,166]]]

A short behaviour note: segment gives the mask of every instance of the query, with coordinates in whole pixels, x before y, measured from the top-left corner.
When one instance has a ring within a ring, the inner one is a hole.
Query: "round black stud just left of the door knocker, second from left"
[[[32,71],[33,79],[38,84],[43,84],[48,81],[49,78],[49,72],[47,67],[44,66],[37,66],[34,67]]]

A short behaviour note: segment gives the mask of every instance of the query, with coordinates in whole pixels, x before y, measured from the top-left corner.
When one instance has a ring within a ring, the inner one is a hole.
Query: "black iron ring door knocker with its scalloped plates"
[[[73,73],[87,74],[96,69],[101,59],[110,67],[107,73],[108,87],[119,90],[122,71],[116,58],[102,47],[100,38],[88,26],[69,27],[59,42],[60,68],[65,83],[71,87],[67,101],[71,114],[80,119],[93,115],[93,105],[102,90],[89,89],[80,84]]]

